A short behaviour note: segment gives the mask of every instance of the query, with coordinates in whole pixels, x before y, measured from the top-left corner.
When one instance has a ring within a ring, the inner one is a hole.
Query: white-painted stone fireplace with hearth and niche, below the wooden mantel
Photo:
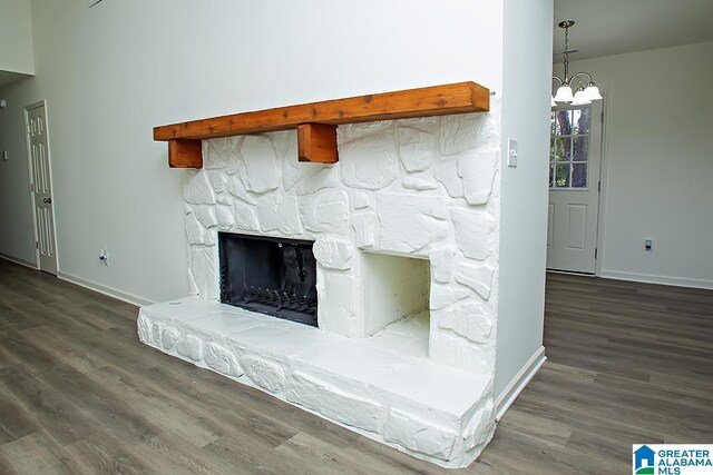
[[[495,431],[499,103],[203,141],[184,187],[192,296],[141,307],[141,342],[447,467]],[[314,241],[319,328],[218,303],[217,232]]]

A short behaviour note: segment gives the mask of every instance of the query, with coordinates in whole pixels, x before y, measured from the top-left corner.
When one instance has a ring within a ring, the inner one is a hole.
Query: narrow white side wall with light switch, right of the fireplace
[[[551,23],[553,0],[505,2],[502,159],[508,138],[519,157],[502,164],[496,398],[543,345]]]

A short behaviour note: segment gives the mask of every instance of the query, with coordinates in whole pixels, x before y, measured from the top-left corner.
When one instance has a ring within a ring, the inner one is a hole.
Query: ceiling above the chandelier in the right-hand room
[[[569,60],[713,40],[713,0],[555,0],[555,52],[565,49],[563,20],[576,22]]]

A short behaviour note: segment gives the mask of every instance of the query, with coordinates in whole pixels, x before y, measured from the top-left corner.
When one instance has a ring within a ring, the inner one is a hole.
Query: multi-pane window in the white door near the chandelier
[[[592,106],[553,111],[549,188],[587,189]]]

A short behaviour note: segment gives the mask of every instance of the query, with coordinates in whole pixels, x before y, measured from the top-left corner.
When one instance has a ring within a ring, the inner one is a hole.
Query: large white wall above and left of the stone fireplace
[[[0,254],[35,258],[22,107],[47,99],[60,274],[138,301],[187,294],[187,171],[168,169],[154,126],[461,80],[500,89],[500,1],[87,4],[33,0],[37,77],[0,91]]]

